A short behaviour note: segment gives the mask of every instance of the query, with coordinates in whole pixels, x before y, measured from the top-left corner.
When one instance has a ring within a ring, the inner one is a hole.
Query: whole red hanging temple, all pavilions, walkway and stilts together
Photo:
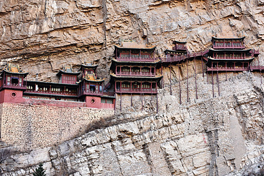
[[[214,73],[217,74],[218,80],[219,72],[225,72],[226,75],[227,72],[249,70],[261,73],[264,66],[259,65],[256,59],[259,52],[245,48],[244,39],[245,37],[213,36],[212,48],[198,53],[190,53],[186,42],[174,41],[175,46],[164,51],[164,58],[155,57],[156,46],[154,45],[122,40],[114,46],[114,58],[111,60],[109,70],[110,80],[106,85],[105,79],[97,77],[98,65],[92,62],[81,64],[81,71],[74,71],[69,65],[62,66],[56,74],[59,77],[58,82],[38,81],[37,76],[35,81],[27,80],[28,72],[24,72],[19,65],[8,63],[0,75],[0,103],[82,106],[115,110],[118,102],[121,111],[124,95],[131,97],[131,106],[133,96],[140,96],[142,101],[142,97],[151,95],[151,98],[156,97],[158,102],[158,89],[164,87],[163,68],[170,68],[173,64],[178,64],[179,68],[181,62],[194,60],[195,63],[195,59],[200,59],[203,76],[205,76],[205,68],[207,76],[208,73],[212,73],[212,81]],[[188,79],[188,66],[186,69]],[[171,93],[171,69],[169,75]],[[187,95],[187,101],[188,99]],[[181,96],[179,102],[181,103]],[[156,104],[158,111],[158,103]]]

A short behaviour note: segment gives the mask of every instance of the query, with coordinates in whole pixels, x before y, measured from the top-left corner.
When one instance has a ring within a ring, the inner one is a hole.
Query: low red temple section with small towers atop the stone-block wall
[[[96,76],[97,65],[86,62],[80,71],[63,66],[57,73],[59,82],[28,80],[28,72],[11,63],[1,72],[1,103],[36,103],[55,106],[73,106],[113,109],[113,94],[103,92],[104,79]],[[81,74],[81,76],[79,76]],[[39,100],[39,101],[36,101]],[[60,101],[60,102],[45,102]],[[83,102],[74,104],[74,102]]]

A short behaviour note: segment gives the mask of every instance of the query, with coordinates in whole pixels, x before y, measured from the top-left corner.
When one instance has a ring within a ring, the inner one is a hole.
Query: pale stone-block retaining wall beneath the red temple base
[[[113,110],[66,108],[3,103],[0,105],[1,139],[22,148],[46,147],[69,140],[93,120]]]

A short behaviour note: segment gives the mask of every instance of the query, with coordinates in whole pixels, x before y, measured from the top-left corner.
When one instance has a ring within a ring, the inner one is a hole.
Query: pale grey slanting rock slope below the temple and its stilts
[[[204,79],[201,74],[199,79]],[[199,82],[201,86],[203,81]],[[119,115],[116,119],[124,121],[118,125],[56,146],[12,155],[0,169],[6,176],[30,175],[39,162],[44,162],[47,175],[259,172],[264,164],[264,87],[258,82],[251,73],[231,77],[220,83],[228,92],[217,98],[210,98],[212,84],[204,84],[200,90],[208,96],[184,105],[175,101],[176,90],[172,96],[166,89],[160,90],[159,114],[143,111]]]

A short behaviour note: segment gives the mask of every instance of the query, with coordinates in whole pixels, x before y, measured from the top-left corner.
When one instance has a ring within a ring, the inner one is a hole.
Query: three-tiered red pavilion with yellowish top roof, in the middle
[[[158,83],[162,78],[156,74],[161,60],[154,57],[156,46],[124,40],[115,45],[115,58],[112,59],[110,81],[115,93],[157,94]]]

